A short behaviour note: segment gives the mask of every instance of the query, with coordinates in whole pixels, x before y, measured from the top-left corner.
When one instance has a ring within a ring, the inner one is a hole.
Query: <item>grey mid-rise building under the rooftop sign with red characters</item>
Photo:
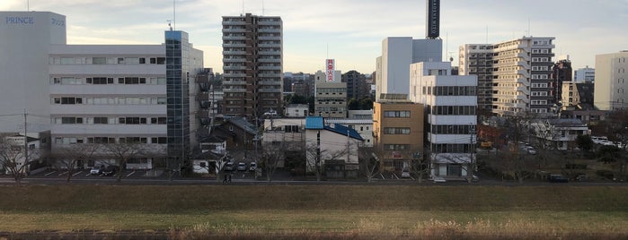
[[[347,82],[341,82],[341,71],[335,71],[334,80],[326,74],[314,74],[314,116],[347,117]]]

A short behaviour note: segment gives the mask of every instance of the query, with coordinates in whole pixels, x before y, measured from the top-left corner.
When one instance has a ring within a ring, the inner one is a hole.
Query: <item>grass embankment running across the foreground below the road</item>
[[[628,187],[2,186],[0,231],[345,239],[628,237]]]

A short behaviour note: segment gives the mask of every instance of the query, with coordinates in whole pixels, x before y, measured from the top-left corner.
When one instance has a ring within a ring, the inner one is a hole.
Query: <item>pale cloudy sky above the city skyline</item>
[[[68,44],[161,44],[168,21],[222,73],[222,16],[280,16],[284,72],[373,73],[386,37],[425,39],[425,0],[2,0],[0,11],[66,15]],[[574,69],[628,50],[628,0],[441,0],[443,56],[470,43],[555,37]],[[444,60],[445,60],[444,59]],[[555,60],[555,59],[554,59]]]

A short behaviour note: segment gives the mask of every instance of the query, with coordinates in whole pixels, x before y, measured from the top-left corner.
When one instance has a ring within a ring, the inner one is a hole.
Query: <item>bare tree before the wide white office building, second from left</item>
[[[78,161],[92,159],[94,153],[98,151],[99,148],[99,144],[93,143],[68,144],[55,149],[52,152],[52,158],[55,163],[67,169],[66,182],[69,183]]]

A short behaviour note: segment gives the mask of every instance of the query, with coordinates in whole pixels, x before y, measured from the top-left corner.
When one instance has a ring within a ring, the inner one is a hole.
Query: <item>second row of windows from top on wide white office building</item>
[[[117,79],[117,81],[116,81]],[[87,77],[87,78],[75,78],[75,77],[53,77],[50,81],[52,84],[62,85],[77,85],[77,84],[93,84],[93,85],[106,85],[106,84],[149,84],[149,85],[165,85],[166,78],[164,77]]]

